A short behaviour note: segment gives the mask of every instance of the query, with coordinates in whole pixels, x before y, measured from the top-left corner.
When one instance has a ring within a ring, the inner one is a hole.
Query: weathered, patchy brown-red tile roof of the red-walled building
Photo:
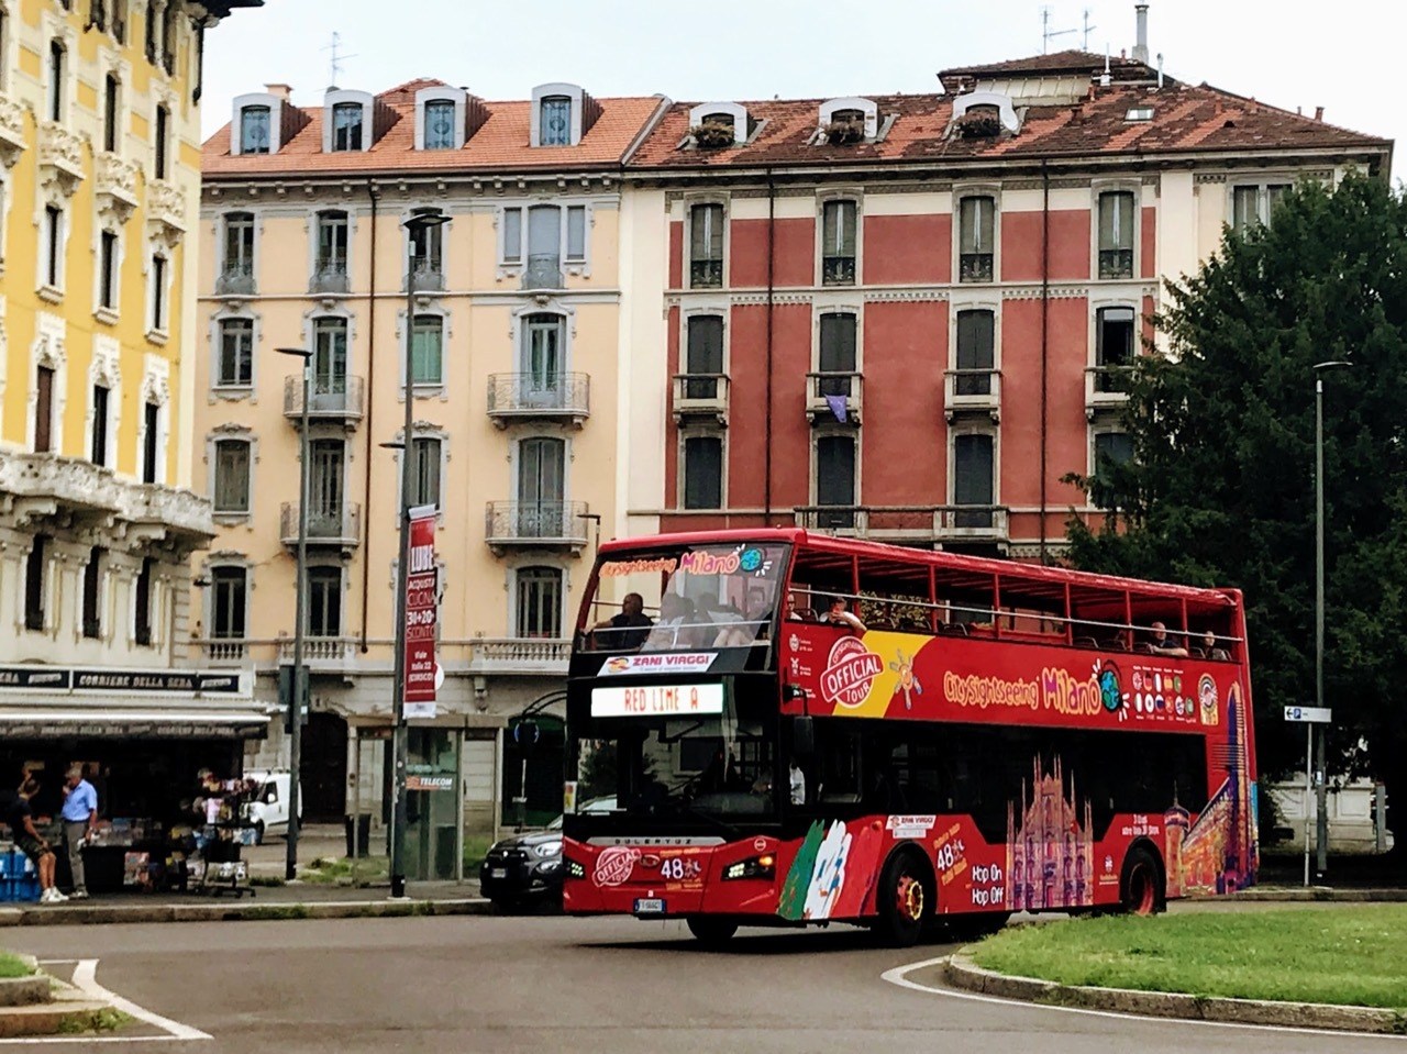
[[[1103,56],[1096,58],[1102,69]],[[1024,62],[1029,61],[1003,65],[1016,69]],[[1162,90],[1154,82],[1114,82],[1107,89],[1096,86],[1090,97],[1075,106],[1026,107],[1021,129],[1016,135],[976,139],[948,136],[953,96],[871,99],[878,106],[881,128],[888,115],[896,115],[881,142],[812,146],[809,142],[816,131],[822,100],[768,100],[743,104],[749,117],[760,124],[747,144],[709,151],[680,149],[689,131],[692,104],[677,103],[642,144],[630,167],[718,169],[981,158],[1135,156],[1185,151],[1392,149],[1390,139],[1338,128],[1207,84],[1165,82]],[[1134,107],[1151,107],[1152,120],[1128,121],[1127,113]],[[1020,103],[1017,110],[1021,110]]]

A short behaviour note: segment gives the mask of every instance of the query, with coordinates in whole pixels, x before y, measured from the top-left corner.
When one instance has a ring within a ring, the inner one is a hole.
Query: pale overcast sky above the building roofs
[[[484,99],[526,99],[567,80],[595,96],[678,101],[934,91],[948,66],[1037,55],[1041,10],[1050,51],[1133,49],[1131,0],[265,0],[207,38],[205,134],[229,101],[293,84],[321,101],[340,34],[339,87],[380,91],[418,76]],[[706,13],[706,17],[705,17]],[[1150,52],[1171,76],[1303,107],[1346,128],[1399,141],[1407,176],[1407,108],[1392,70],[1403,62],[1399,0],[1151,0]]]

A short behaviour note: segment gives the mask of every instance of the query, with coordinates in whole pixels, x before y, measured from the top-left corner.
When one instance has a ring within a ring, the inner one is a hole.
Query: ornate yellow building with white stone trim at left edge
[[[6,778],[59,750],[138,757],[151,747],[114,746],[132,705],[152,708],[144,742],[174,711],[235,716],[170,667],[186,660],[190,554],[212,533],[189,440],[201,45],[259,3],[0,0]],[[132,670],[151,677],[124,692]],[[75,742],[73,722],[96,742]],[[238,747],[229,728],[215,739]]]

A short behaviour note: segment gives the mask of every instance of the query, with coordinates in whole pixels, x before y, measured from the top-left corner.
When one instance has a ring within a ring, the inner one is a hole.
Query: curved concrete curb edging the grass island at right
[[[1086,1010],[1113,1010],[1150,1017],[1182,1017],[1228,1024],[1279,1024],[1294,1029],[1335,1031],[1407,1033],[1407,1016],[1372,1006],[1328,1006],[1262,999],[1224,999],[1180,992],[1137,992],[1127,988],[1086,988],[1009,977],[976,965],[967,948],[955,951],[944,967],[944,979],[954,988],[1005,999],[1026,999]]]

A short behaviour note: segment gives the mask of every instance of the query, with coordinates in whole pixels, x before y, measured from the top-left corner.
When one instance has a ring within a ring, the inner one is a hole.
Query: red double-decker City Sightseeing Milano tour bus
[[[799,529],[611,542],[567,733],[573,913],[906,944],[1255,881],[1235,590]]]

